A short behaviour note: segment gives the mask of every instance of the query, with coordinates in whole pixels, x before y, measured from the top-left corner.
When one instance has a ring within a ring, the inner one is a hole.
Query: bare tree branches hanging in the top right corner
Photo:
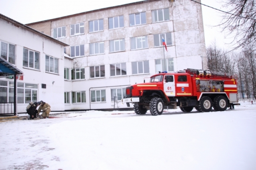
[[[234,38],[235,49],[255,43],[256,0],[224,0],[224,3],[231,10],[224,14],[220,25]]]

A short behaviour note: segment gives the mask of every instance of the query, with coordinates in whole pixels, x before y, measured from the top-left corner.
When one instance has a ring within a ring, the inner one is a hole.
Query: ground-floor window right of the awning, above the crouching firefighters
[[[25,85],[25,86],[24,86]],[[17,102],[18,104],[26,104],[37,102],[38,85],[29,83],[17,83]]]

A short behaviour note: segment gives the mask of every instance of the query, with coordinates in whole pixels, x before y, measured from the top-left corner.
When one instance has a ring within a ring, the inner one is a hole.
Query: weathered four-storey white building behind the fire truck
[[[158,71],[207,69],[202,9],[190,0],[145,0],[26,25],[70,45],[65,110],[113,108],[127,86]]]

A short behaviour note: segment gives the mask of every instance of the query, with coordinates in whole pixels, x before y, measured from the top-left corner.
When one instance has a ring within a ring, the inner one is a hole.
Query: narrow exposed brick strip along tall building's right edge
[[[201,0],[196,0],[197,2],[201,3]],[[194,2],[196,3],[196,2]],[[196,3],[196,10],[197,10],[197,18],[198,18],[198,28],[200,31],[200,42],[201,42],[201,57],[202,57],[202,69],[208,69],[208,60],[206,56],[206,46],[205,46],[205,39],[204,39],[204,23],[203,23],[203,14],[202,14],[202,6],[201,4]]]

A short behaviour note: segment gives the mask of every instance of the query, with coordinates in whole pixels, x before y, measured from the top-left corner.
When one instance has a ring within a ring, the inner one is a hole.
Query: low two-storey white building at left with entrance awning
[[[68,44],[0,14],[0,54],[23,72],[17,80],[17,113],[43,100],[64,110],[64,47]],[[0,103],[14,102],[14,79],[0,78]]]

